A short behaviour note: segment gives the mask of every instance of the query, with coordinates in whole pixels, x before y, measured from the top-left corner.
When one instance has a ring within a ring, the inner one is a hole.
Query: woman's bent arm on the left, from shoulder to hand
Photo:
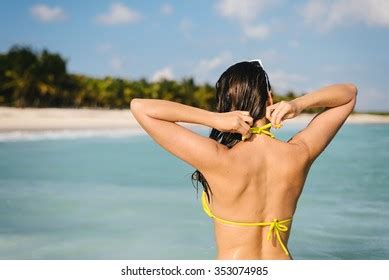
[[[248,112],[215,113],[167,100],[135,98],[130,107],[135,119],[159,145],[200,171],[217,171],[228,148],[176,122],[241,134],[250,128],[245,121],[252,123]]]

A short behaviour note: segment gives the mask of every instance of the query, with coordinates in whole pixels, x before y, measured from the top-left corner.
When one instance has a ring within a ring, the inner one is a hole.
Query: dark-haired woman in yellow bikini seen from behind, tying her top
[[[216,83],[217,112],[138,98],[131,112],[159,145],[196,168],[192,178],[204,187],[217,259],[292,259],[287,243],[308,171],[353,111],[356,95],[353,84],[336,84],[273,104],[260,61],[244,61]],[[324,110],[305,129],[287,142],[273,137],[270,127],[314,107]],[[207,138],[176,122],[213,129]]]

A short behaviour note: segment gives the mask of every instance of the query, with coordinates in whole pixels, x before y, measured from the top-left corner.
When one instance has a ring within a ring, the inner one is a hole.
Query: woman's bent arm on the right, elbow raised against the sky
[[[304,145],[312,163],[331,142],[353,111],[357,92],[358,89],[353,84],[327,86],[288,102],[288,106],[284,107],[289,109],[279,108],[278,113],[270,116],[270,119],[275,125],[282,119],[294,117],[305,109],[325,107],[325,110],[318,113],[305,129],[289,141],[289,143]]]

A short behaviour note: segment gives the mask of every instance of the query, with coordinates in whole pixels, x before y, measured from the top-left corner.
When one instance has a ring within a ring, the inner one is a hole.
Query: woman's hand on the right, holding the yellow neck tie
[[[266,118],[272,123],[273,127],[282,125],[282,121],[292,119],[298,116],[302,108],[292,101],[280,101],[276,104],[266,107]]]

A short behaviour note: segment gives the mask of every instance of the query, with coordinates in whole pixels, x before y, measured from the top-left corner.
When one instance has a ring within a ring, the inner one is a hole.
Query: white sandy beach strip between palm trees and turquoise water
[[[311,114],[301,114],[288,122],[308,123]],[[389,116],[354,114],[347,123],[389,123]],[[0,107],[0,132],[37,130],[139,128],[127,110],[60,109],[60,108],[10,108]]]

